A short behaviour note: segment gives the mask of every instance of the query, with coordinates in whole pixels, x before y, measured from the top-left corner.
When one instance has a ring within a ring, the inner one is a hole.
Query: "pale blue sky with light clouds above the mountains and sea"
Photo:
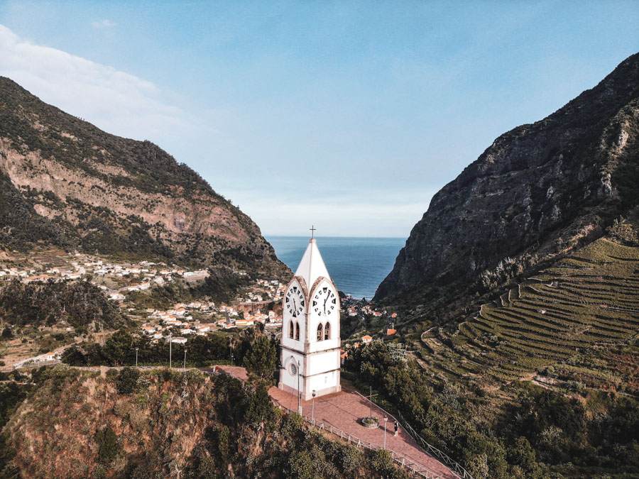
[[[264,234],[408,236],[494,138],[639,50],[636,1],[12,1],[0,75]]]

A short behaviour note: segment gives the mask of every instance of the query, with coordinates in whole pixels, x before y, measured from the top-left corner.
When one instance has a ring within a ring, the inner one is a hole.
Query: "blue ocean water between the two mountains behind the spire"
[[[307,236],[265,236],[278,258],[295,271],[308,246]],[[371,299],[395,265],[405,238],[319,237],[324,263],[338,290]]]

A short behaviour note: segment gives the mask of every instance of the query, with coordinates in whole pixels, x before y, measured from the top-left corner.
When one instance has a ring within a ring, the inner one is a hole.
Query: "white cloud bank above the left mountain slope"
[[[186,130],[188,114],[152,82],[62,50],[34,45],[0,25],[0,75],[109,133],[159,140]]]

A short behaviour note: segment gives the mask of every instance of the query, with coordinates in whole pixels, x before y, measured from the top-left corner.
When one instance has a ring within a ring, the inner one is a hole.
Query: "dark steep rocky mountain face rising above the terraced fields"
[[[639,54],[505,133],[432,198],[376,299],[494,286],[601,235],[639,202]]]

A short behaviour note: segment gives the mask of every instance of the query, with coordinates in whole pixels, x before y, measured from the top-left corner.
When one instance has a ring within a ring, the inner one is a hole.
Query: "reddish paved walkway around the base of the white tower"
[[[246,370],[244,368],[220,366],[224,372],[246,380]],[[273,397],[276,403],[281,406],[297,411],[297,396],[290,395],[288,392],[279,390],[277,387],[271,387],[268,393]],[[312,417],[313,403],[310,401],[302,401],[302,415]],[[370,402],[361,397],[356,392],[342,391],[335,392],[331,395],[318,397],[315,400],[315,424],[320,426],[324,423],[324,428],[329,429],[333,426],[342,429],[345,434],[352,434],[362,441],[368,441],[378,447],[384,444],[384,417],[386,412],[373,404],[373,417],[379,419],[380,427],[376,429],[368,429],[359,422],[363,417],[370,414]],[[439,474],[442,479],[457,479],[457,475],[451,472],[444,464],[432,458],[424,452],[420,446],[417,446],[415,439],[403,431],[400,431],[397,437],[394,436],[395,428],[393,426],[393,417],[388,416],[386,423],[386,448],[395,453],[409,458],[411,461],[430,470],[432,473]]]

